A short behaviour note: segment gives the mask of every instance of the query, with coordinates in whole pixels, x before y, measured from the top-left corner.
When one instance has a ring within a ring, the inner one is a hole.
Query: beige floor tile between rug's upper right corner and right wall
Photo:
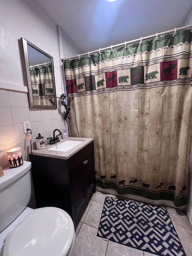
[[[187,218],[187,215],[184,211],[176,208],[168,207],[168,206],[167,206],[167,211],[170,215],[173,225],[192,229],[189,219]]]

